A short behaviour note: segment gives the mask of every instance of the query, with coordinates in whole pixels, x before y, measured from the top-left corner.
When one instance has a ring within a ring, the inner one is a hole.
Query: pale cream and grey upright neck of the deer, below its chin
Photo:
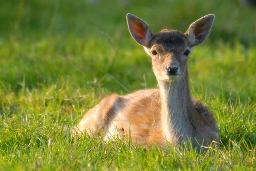
[[[163,133],[167,141],[176,145],[188,141],[195,130],[193,108],[187,81],[183,78],[172,82],[159,82],[162,105]]]

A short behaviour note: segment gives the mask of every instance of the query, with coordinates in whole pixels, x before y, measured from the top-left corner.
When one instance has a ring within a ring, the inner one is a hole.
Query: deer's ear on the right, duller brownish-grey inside
[[[189,26],[185,33],[189,38],[189,46],[196,46],[205,41],[211,31],[213,20],[214,14],[209,14],[201,17]]]

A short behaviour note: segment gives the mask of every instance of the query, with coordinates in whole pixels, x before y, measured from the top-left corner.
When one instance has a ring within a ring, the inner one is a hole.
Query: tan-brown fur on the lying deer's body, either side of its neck
[[[131,130],[133,143],[139,142],[143,145],[154,145],[157,143],[161,146],[166,146],[166,139],[163,136],[161,127],[161,100],[159,94],[160,92],[157,89],[139,90],[125,96],[111,94],[84,115],[80,123],[88,118],[87,122],[83,125],[79,124],[77,128],[75,127],[75,132],[100,135],[101,131],[107,131],[107,128],[114,121],[118,121],[116,128],[126,133],[129,133]],[[136,100],[134,101],[135,98]],[[113,106],[115,102],[120,105],[120,108],[122,108],[121,113],[126,113],[127,118],[120,117],[120,112],[116,113],[114,111]],[[140,104],[140,109],[138,104]],[[209,132],[209,130],[218,132],[218,127],[212,113],[196,99],[192,99],[192,105],[196,111],[195,125],[197,130],[195,138],[198,142],[203,142],[203,135],[204,146],[207,146],[207,143],[211,144],[212,141],[218,142],[218,136],[215,133]],[[102,110],[95,113],[99,106],[102,106]],[[140,115],[140,111],[143,111],[143,115]],[[95,115],[97,116],[96,119],[93,118]]]

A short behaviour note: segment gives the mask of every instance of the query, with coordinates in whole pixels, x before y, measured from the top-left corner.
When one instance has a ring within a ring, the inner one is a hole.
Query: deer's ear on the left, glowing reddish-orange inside
[[[153,34],[148,24],[133,14],[127,14],[126,19],[129,31],[134,41],[142,46],[149,47]]]

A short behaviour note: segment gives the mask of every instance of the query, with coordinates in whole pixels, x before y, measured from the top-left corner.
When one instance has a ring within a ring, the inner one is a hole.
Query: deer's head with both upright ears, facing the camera
[[[189,54],[194,46],[205,41],[213,20],[214,14],[206,15],[192,23],[184,34],[168,29],[153,34],[147,23],[133,14],[127,14],[131,36],[151,56],[158,82],[177,81],[186,75]]]

